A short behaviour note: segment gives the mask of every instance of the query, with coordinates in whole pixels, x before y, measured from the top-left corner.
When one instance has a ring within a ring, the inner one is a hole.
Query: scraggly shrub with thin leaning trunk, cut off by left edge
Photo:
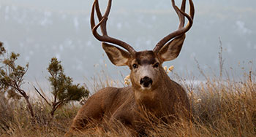
[[[29,101],[29,95],[21,88],[24,84],[23,77],[29,69],[29,63],[26,66],[17,66],[15,61],[18,60],[20,54],[12,52],[10,56],[5,58],[6,50],[3,43],[0,42],[0,55],[4,58],[0,60],[0,91],[6,93],[9,98],[20,99],[25,98],[28,104],[31,117],[34,117],[34,111]]]

